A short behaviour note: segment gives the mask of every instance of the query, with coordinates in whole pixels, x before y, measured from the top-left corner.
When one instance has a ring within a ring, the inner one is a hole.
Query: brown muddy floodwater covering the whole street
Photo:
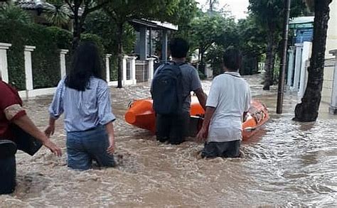
[[[197,157],[202,145],[193,141],[157,143],[123,117],[132,99],[149,97],[149,84],[112,88],[119,166],[77,172],[67,168],[66,154],[56,158],[46,148],[33,157],[18,153],[18,186],[14,194],[0,196],[0,207],[336,207],[337,116],[321,104],[318,121],[291,121],[294,95],[286,95],[284,114],[277,115],[276,89],[263,92],[259,76],[245,78],[271,119],[242,143],[242,158],[203,160]],[[203,86],[207,92],[210,81]],[[41,128],[48,124],[50,100],[26,102]],[[62,119],[53,141],[65,153]]]

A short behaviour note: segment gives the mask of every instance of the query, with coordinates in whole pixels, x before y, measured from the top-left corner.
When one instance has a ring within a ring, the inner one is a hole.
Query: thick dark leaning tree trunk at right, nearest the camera
[[[329,7],[332,0],[315,0],[314,40],[306,92],[301,103],[296,105],[294,121],[316,121],[319,116],[323,69],[326,51],[326,33],[328,31]]]

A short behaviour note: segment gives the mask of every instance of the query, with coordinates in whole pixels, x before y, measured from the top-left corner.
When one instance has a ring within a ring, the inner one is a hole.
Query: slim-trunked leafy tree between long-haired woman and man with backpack
[[[178,10],[179,0],[114,0],[104,7],[104,11],[112,19],[112,23],[117,26],[117,50],[118,60],[118,87],[122,87],[122,67],[121,56],[123,53],[122,38],[126,23],[135,18],[146,18],[159,21],[178,21],[175,16]]]

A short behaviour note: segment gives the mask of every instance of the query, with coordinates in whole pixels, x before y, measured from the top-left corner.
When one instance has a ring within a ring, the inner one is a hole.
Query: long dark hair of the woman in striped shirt
[[[85,91],[92,76],[102,79],[102,67],[96,44],[88,41],[76,49],[70,73],[65,78],[65,86]]]

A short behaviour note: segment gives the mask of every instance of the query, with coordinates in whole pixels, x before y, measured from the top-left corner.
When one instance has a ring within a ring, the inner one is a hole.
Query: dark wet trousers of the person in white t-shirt
[[[205,143],[203,158],[237,158],[240,155],[240,140]]]

